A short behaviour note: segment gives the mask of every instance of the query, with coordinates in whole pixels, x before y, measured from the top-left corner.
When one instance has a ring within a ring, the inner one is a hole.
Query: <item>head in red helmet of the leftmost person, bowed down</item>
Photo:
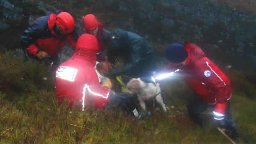
[[[74,18],[67,12],[60,12],[55,18],[53,31],[56,34],[68,34],[74,30]]]

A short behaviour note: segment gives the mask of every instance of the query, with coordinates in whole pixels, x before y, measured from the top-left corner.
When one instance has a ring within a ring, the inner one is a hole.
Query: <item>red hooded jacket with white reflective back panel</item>
[[[92,50],[93,47],[97,47],[97,41],[94,36],[95,39],[85,41],[88,35],[83,34],[78,39],[73,58],[58,67],[55,78],[56,97],[60,101],[68,98],[71,104],[82,105],[84,96],[85,105],[103,108],[110,98],[110,90],[101,87],[99,83],[94,69],[96,50]]]

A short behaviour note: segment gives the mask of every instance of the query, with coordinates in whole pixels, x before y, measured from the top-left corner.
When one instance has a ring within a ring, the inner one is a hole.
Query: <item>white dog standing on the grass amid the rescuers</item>
[[[127,83],[126,92],[130,94],[137,94],[139,104],[143,110],[146,110],[145,100],[155,98],[155,100],[162,106],[163,111],[166,112],[166,106],[161,97],[161,89],[159,83],[146,83],[140,78],[133,78]]]

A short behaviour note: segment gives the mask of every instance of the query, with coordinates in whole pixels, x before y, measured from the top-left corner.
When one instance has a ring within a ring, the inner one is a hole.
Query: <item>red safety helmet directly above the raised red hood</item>
[[[87,14],[84,16],[84,26],[86,30],[94,30],[98,27],[98,20],[93,14]]]

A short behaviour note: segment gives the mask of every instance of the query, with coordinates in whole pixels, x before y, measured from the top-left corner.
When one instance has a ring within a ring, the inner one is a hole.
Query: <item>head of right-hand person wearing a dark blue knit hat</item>
[[[178,68],[185,65],[187,56],[187,50],[179,43],[173,43],[165,50],[165,58]]]

